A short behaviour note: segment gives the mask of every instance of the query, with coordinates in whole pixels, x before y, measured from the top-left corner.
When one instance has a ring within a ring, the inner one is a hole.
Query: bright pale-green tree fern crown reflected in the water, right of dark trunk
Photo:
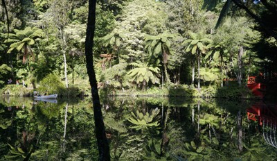
[[[127,120],[134,124],[131,128],[142,131],[149,130],[150,128],[157,128],[159,126],[159,122],[154,121],[154,118],[157,117],[159,112],[160,110],[155,108],[154,110],[151,109],[150,112],[145,112],[145,115],[143,115],[143,112],[136,110],[136,114],[132,112],[132,117]]]

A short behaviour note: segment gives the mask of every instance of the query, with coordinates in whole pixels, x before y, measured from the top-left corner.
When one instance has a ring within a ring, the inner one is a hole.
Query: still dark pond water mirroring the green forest
[[[0,97],[0,160],[97,160],[84,100]],[[102,99],[112,160],[276,160],[276,104],[166,97]]]

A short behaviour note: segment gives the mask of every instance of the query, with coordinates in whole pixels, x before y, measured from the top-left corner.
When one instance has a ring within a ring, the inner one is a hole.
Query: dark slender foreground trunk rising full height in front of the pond
[[[100,99],[97,89],[96,74],[93,68],[93,37],[96,24],[96,0],[89,0],[89,15],[87,19],[87,34],[85,42],[85,55],[87,62],[87,74],[91,85],[93,112],[96,126],[96,139],[98,144],[99,160],[111,160],[109,144],[105,133],[105,125],[101,112]]]

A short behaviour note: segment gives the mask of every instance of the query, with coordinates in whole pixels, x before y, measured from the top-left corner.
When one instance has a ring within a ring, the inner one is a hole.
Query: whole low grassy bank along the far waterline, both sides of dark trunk
[[[61,83],[51,85],[40,85],[35,89],[44,94],[58,94],[61,97],[91,96],[88,85],[71,85],[64,87]],[[21,85],[6,85],[0,89],[3,96],[33,96],[33,88]],[[190,85],[169,85],[167,87],[151,87],[147,90],[118,90],[111,88],[100,88],[100,96],[175,96],[175,97],[202,97],[202,98],[224,98],[224,99],[257,99],[247,87],[214,87],[203,86],[200,90]]]

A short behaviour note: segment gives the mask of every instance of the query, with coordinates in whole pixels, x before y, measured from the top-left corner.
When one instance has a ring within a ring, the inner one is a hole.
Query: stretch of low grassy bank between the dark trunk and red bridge
[[[258,99],[247,87],[202,87],[200,90],[190,85],[170,85],[168,87],[152,87],[148,90],[111,90],[100,89],[101,96],[180,96],[224,99]]]

